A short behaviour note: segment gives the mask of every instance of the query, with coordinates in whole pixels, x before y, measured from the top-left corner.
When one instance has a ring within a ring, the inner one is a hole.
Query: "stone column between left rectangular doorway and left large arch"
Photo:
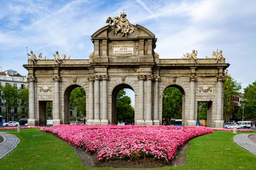
[[[60,77],[52,77],[54,81],[54,115],[53,125],[61,124],[61,99],[60,99]]]

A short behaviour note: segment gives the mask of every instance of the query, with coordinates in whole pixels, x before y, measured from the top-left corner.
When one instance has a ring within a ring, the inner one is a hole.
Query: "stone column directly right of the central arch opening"
[[[138,116],[137,125],[144,125],[144,75],[139,75],[139,91],[138,91]]]

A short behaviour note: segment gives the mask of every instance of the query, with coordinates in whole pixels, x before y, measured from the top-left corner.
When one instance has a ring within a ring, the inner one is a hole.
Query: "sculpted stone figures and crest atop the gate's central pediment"
[[[134,26],[132,26],[131,23],[129,23],[129,20],[126,19],[125,11],[120,14],[120,17],[116,16],[114,19],[108,17],[106,23],[108,23],[110,26],[113,23],[113,26],[115,26],[113,34],[120,32],[120,37],[125,37],[126,35],[134,32]]]

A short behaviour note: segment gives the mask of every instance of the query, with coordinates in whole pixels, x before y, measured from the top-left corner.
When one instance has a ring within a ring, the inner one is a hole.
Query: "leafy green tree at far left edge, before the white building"
[[[7,84],[5,86],[0,86],[1,98],[3,104],[6,106],[6,113],[10,113],[12,108],[16,108],[19,102],[18,89],[15,86]],[[9,116],[9,115],[8,115]],[[9,118],[7,119],[9,121]]]

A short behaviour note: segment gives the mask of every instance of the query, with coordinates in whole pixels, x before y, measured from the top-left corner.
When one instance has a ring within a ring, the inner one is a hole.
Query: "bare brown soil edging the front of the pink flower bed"
[[[53,133],[49,133],[57,138],[58,135],[54,135]],[[61,138],[59,138],[61,139]],[[62,140],[62,139],[61,139]],[[63,140],[64,141],[64,140]],[[64,141],[65,142],[65,141]],[[71,144],[70,144],[71,145]],[[189,142],[186,142],[183,147],[177,151],[175,158],[168,164],[163,164],[158,161],[154,161],[152,159],[141,159],[137,161],[98,161],[97,156],[81,151],[77,147],[71,145],[77,152],[80,157],[82,163],[88,167],[113,167],[113,168],[154,168],[154,167],[166,167],[166,166],[181,166],[186,164],[186,150],[189,148]]]

